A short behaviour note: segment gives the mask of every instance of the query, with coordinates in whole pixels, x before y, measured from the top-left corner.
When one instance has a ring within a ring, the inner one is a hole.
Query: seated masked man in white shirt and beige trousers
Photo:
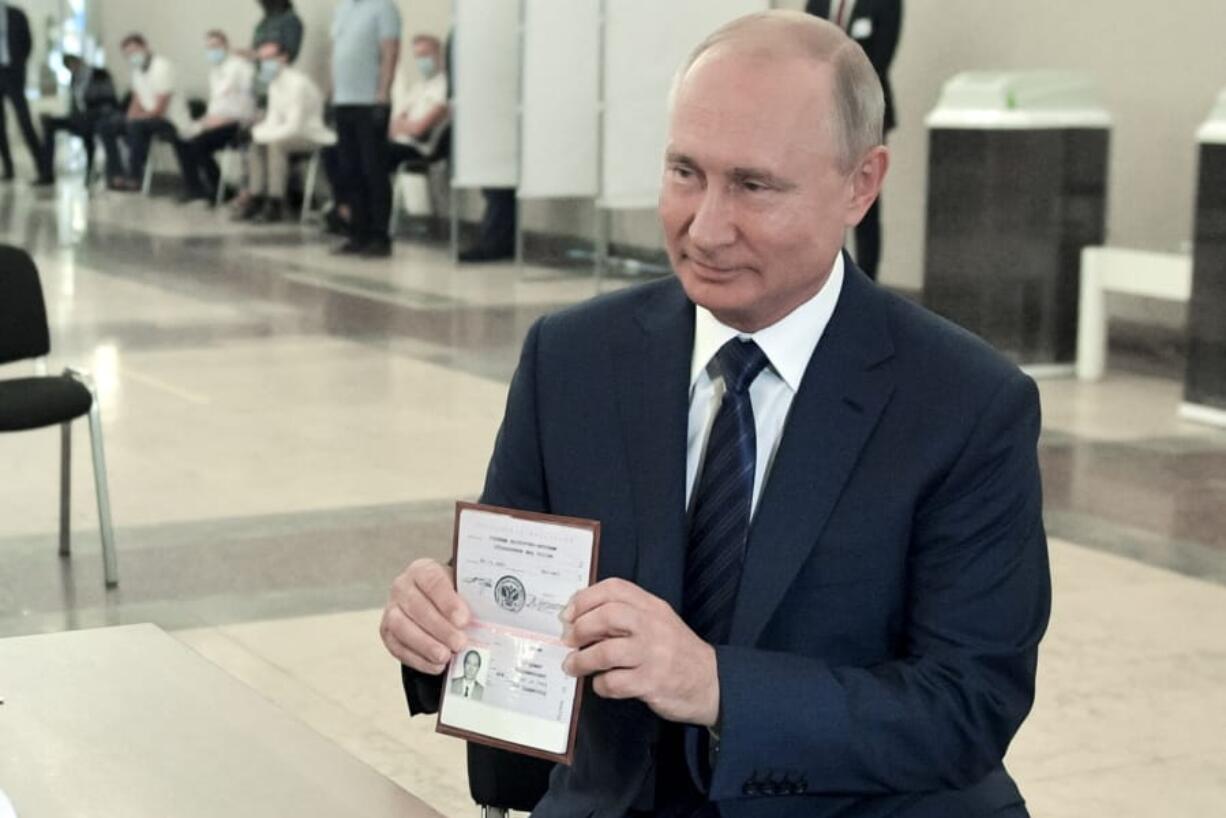
[[[260,78],[268,86],[268,109],[251,129],[248,188],[239,197],[239,221],[280,222],[284,215],[289,155],[336,143],[324,125],[324,94],[310,77],[289,65],[277,43],[257,52]]]

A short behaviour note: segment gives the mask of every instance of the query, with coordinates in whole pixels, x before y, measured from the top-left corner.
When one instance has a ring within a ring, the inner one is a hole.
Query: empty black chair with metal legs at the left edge
[[[38,267],[25,250],[0,244],[0,364],[43,358],[51,350],[47,305]],[[93,445],[93,482],[98,493],[98,524],[107,587],[119,585],[115,540],[110,527],[107,460],[102,448],[102,419],[93,385],[78,372],[61,375],[0,380],[0,432],[60,427],[60,556],[71,553],[72,421],[89,416]]]

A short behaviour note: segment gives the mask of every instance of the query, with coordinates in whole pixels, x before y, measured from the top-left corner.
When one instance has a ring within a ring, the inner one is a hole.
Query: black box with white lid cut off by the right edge
[[[1183,413],[1226,426],[1226,91],[1217,97],[1198,140],[1200,172]]]

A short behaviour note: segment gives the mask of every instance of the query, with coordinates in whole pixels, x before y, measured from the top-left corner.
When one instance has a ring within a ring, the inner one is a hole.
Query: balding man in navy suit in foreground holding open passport
[[[676,278],[525,341],[482,498],[602,524],[563,612],[596,695],[536,818],[1026,814],[1002,759],[1049,611],[1037,392],[841,253],[888,166],[847,44],[786,11],[707,38],[660,197]],[[438,563],[394,583],[412,711],[470,616]]]

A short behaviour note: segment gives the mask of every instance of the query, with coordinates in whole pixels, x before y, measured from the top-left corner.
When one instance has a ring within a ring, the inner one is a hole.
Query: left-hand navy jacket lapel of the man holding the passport
[[[614,350],[618,407],[634,497],[636,584],[680,607],[685,574],[685,441],[694,307],[673,280]]]

